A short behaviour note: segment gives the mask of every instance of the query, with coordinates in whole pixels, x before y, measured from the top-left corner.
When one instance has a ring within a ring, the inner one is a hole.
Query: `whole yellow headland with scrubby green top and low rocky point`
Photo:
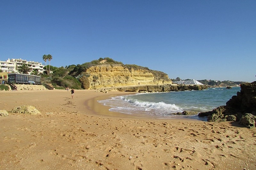
[[[112,61],[112,60],[111,60]],[[92,62],[94,63],[94,62]],[[168,92],[207,89],[207,85],[174,85],[166,73],[138,65],[124,65],[97,60],[97,64],[84,63],[74,68],[71,75],[81,82],[84,89],[97,91]]]

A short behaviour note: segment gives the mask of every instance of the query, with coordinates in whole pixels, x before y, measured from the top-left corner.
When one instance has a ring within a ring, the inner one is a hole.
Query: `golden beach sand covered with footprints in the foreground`
[[[108,111],[93,90],[0,91],[0,170],[255,170],[256,128]],[[100,113],[100,114],[99,114]]]

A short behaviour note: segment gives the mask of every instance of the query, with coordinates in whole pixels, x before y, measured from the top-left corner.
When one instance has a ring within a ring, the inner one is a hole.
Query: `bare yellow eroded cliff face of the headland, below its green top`
[[[83,73],[83,79],[89,83],[86,89],[138,84],[159,85],[172,83],[167,75],[165,77],[156,77],[149,70],[128,69],[120,64],[106,64],[90,67]]]

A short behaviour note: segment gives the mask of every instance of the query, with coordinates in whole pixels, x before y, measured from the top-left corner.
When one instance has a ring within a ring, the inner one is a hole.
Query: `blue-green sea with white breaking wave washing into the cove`
[[[151,117],[155,119],[199,119],[198,115],[184,116],[173,113],[182,111],[206,112],[212,111],[235,96],[240,87],[208,88],[203,91],[174,91],[168,93],[148,93],[125,96],[115,96],[111,99],[98,101],[103,105],[110,106],[109,111],[134,116]]]

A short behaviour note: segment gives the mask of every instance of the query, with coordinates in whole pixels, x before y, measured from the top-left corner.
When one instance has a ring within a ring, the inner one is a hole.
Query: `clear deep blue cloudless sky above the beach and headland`
[[[256,80],[256,0],[0,0],[0,60],[110,57],[169,78]]]

